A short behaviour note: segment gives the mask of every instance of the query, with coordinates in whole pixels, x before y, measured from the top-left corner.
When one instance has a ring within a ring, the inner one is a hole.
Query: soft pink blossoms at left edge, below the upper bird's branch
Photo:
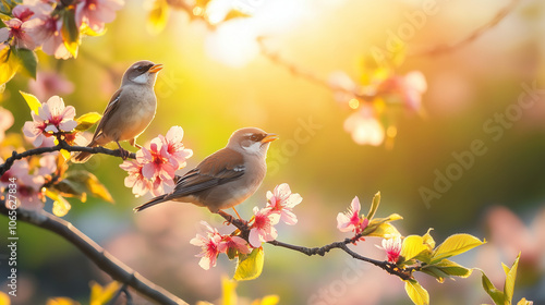
[[[0,158],[0,163],[3,162]],[[29,173],[29,166],[26,159],[15,161],[11,169],[0,178],[0,188],[4,188],[2,193],[5,193],[10,188],[10,184],[13,184],[10,179],[15,179],[17,207],[24,209],[43,208],[40,188],[45,183],[45,179],[40,174]],[[9,207],[9,200],[5,200],[7,207]]]

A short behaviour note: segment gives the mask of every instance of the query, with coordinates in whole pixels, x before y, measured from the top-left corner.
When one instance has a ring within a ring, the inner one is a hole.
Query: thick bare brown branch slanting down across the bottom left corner
[[[11,209],[5,207],[5,202],[0,200],[0,213],[8,216]],[[77,230],[72,223],[58,218],[44,210],[33,211],[16,209],[17,220],[32,223],[36,227],[49,230],[62,236],[71,244],[76,246],[85,256],[87,256],[102,271],[112,279],[130,285],[135,291],[145,295],[159,304],[187,304],[178,296],[171,294],[159,285],[142,277],[138,272],[132,270],[126,265],[118,260],[111,254],[106,252],[87,235]]]

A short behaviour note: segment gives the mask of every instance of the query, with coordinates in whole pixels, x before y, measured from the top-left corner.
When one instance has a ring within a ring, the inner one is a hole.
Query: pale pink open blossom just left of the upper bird
[[[46,136],[59,132],[71,132],[77,123],[73,120],[75,109],[64,107],[64,101],[58,96],[52,96],[46,103],[38,108],[38,113],[32,111],[33,120],[25,122],[23,132],[34,138],[34,146],[39,147]]]

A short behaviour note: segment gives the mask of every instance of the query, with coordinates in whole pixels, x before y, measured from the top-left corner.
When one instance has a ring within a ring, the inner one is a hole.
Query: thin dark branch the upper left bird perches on
[[[120,149],[108,149],[101,146],[97,147],[87,147],[87,146],[71,146],[64,141],[60,141],[59,144],[56,146],[51,147],[38,147],[34,149],[29,149],[23,152],[17,152],[13,150],[13,154],[11,155],[10,158],[5,159],[5,162],[0,166],[0,176],[4,174],[10,168],[13,166],[13,162],[15,160],[20,160],[26,157],[31,156],[36,156],[36,155],[41,155],[46,152],[53,152],[53,151],[60,151],[61,149],[64,149],[70,152],[90,152],[90,154],[104,154],[104,155],[110,155],[113,157],[122,157],[122,151]],[[129,158],[135,159],[136,155],[134,152],[129,154]]]

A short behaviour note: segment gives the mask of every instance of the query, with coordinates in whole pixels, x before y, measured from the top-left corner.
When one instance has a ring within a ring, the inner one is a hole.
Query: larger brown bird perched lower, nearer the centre
[[[134,210],[142,211],[174,200],[207,207],[211,212],[228,208],[237,212],[234,206],[252,196],[262,184],[267,172],[267,150],[270,142],[277,138],[276,134],[256,127],[235,131],[225,148],[180,176],[172,192],[157,196]]]

